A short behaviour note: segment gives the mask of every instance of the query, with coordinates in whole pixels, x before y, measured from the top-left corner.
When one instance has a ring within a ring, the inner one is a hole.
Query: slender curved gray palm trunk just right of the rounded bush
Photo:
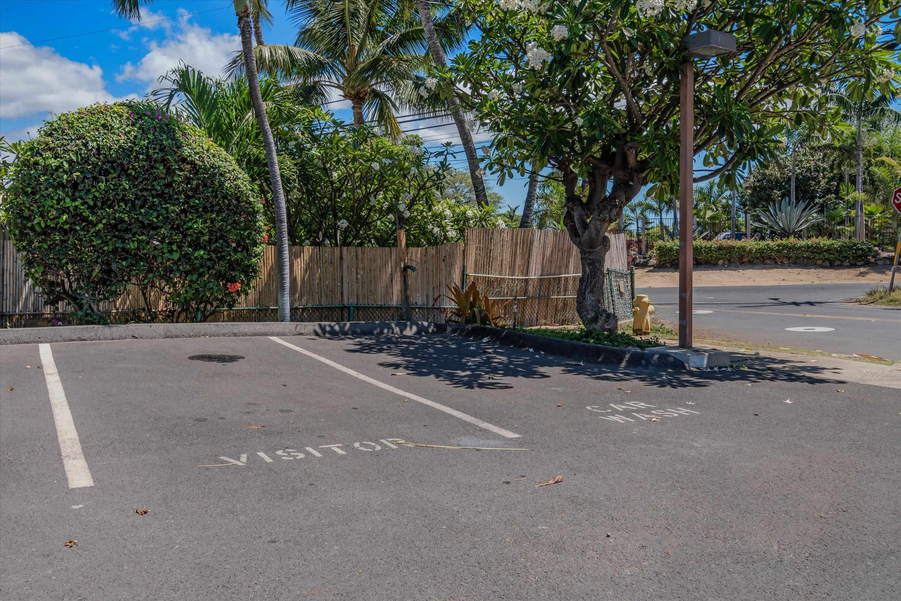
[[[290,276],[288,274],[287,257],[287,218],[285,210],[285,194],[281,186],[281,173],[278,171],[276,144],[269,129],[263,96],[259,93],[259,76],[257,61],[253,58],[253,41],[250,33],[250,11],[238,14],[238,30],[241,32],[241,52],[244,55],[244,68],[250,87],[250,100],[256,114],[259,132],[263,136],[263,150],[266,151],[266,162],[269,168],[269,181],[272,184],[272,201],[276,212],[276,235],[278,236],[278,318],[283,322],[291,321],[291,306],[288,297]]]

